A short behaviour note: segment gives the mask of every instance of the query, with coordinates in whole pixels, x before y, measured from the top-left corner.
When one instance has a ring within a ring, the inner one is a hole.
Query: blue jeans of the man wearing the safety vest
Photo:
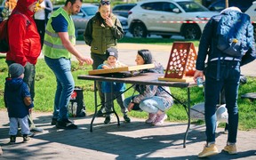
[[[54,99],[53,117],[58,121],[68,118],[68,102],[74,91],[75,82],[71,74],[71,61],[69,59],[50,59],[44,56],[44,60],[56,76],[57,89]]]

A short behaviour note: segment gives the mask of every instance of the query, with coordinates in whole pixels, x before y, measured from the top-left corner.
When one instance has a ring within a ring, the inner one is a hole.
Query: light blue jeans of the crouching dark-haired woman
[[[131,102],[131,100],[133,99],[134,96],[132,97],[128,97],[124,100],[124,107],[128,108],[129,103]],[[163,98],[154,96],[145,100],[141,100],[140,101],[140,109],[148,112],[148,113],[153,113],[156,114],[158,110],[161,111],[165,111],[168,108],[171,108],[172,105],[170,105],[169,103],[166,103],[164,105],[164,100]]]

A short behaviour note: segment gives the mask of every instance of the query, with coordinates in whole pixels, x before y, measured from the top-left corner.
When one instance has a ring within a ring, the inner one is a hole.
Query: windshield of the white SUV
[[[185,12],[208,12],[208,9],[195,2],[177,2]]]

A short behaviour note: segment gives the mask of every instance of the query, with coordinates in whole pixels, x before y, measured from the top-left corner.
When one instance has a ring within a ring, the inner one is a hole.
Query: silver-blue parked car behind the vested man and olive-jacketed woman
[[[61,5],[57,5],[53,7],[53,11],[56,11],[60,8]],[[86,25],[88,21],[98,12],[99,6],[94,4],[83,4],[80,12],[76,15],[72,15],[72,19],[76,28],[76,37],[80,34],[84,33]],[[125,17],[116,15],[117,19],[120,20],[122,27],[124,29],[124,33],[128,31],[128,22]]]

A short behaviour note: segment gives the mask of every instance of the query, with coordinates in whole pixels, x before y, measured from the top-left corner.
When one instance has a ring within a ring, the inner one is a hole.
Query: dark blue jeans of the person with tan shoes
[[[205,124],[207,142],[215,142],[216,105],[219,103],[220,91],[225,90],[226,108],[228,108],[228,142],[236,143],[238,126],[238,88],[240,79],[240,62],[220,61],[220,79],[217,79],[217,60],[209,62],[205,69]]]

